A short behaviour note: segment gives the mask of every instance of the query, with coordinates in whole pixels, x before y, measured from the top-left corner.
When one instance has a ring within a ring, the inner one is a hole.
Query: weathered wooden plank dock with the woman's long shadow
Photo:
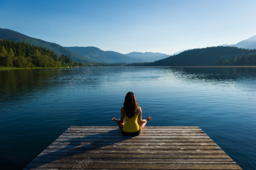
[[[24,170],[241,170],[200,127],[71,126]]]

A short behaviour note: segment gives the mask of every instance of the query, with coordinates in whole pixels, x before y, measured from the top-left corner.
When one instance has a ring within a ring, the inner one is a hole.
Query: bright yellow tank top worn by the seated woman
[[[124,125],[122,130],[124,132],[137,132],[137,131],[139,131],[139,124],[137,122],[138,116],[139,115],[135,114],[135,117],[128,118],[125,115],[125,122],[126,123],[125,123],[125,125]]]

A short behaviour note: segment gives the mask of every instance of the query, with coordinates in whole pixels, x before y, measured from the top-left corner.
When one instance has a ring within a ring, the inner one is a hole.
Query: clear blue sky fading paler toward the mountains
[[[256,0],[0,0],[0,28],[66,47],[173,54],[256,35]]]

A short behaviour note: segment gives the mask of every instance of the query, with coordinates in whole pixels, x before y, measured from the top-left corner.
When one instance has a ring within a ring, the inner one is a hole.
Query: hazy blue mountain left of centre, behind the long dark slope
[[[130,58],[115,51],[102,51],[97,47],[65,47],[78,55],[93,59],[100,63],[135,63],[138,59]]]

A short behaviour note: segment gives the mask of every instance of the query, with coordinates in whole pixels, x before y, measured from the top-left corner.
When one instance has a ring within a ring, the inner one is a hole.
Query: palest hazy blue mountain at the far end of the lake
[[[153,62],[159,59],[164,59],[169,57],[170,55],[162,54],[162,53],[153,53],[153,52],[130,52],[126,54],[128,57],[139,59],[139,62]]]

